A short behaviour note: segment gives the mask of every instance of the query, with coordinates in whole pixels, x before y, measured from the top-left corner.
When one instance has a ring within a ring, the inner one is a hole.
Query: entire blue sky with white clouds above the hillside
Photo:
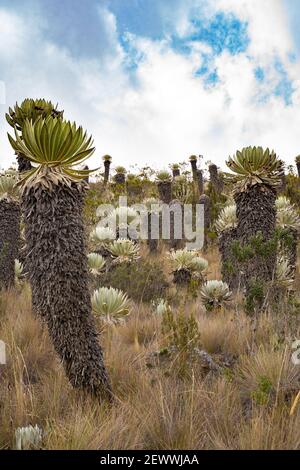
[[[203,155],[224,168],[262,145],[300,153],[300,0],[0,0],[5,112],[46,98],[93,135],[98,167]]]

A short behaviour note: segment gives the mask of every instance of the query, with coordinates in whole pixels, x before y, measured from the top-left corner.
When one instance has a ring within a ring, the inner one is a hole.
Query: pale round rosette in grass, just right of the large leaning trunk
[[[92,307],[100,320],[113,325],[124,323],[131,310],[128,296],[113,287],[96,290],[92,297]]]

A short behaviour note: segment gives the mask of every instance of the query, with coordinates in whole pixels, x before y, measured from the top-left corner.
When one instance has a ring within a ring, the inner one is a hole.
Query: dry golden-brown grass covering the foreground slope
[[[216,249],[206,257],[209,277],[220,278]],[[299,449],[300,409],[290,416],[300,389],[300,366],[291,361],[299,313],[282,301],[254,321],[241,305],[237,296],[230,309],[212,314],[186,298],[184,312],[195,314],[201,348],[216,361],[227,358],[217,373],[197,362],[180,364],[182,357],[147,367],[164,342],[161,319],[149,306],[135,305],[125,325],[99,324],[116,397],[107,407],[69,386],[31,311],[29,286],[0,294],[8,356],[0,366],[0,448],[14,447],[17,427],[38,424],[45,449]]]

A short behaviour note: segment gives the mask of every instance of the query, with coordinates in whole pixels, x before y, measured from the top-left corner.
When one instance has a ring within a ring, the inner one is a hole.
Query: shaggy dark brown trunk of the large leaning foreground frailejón
[[[111,398],[91,310],[81,185],[23,194],[27,267],[35,309],[73,387]]]

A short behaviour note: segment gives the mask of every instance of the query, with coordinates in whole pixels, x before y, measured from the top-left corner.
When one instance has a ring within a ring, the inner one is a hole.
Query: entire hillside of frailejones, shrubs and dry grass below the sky
[[[249,147],[226,171],[192,156],[129,174],[106,155],[93,173],[92,139],[51,103],[7,120],[0,448],[299,450],[296,170]],[[196,249],[172,216],[151,236],[175,201],[203,209]]]

